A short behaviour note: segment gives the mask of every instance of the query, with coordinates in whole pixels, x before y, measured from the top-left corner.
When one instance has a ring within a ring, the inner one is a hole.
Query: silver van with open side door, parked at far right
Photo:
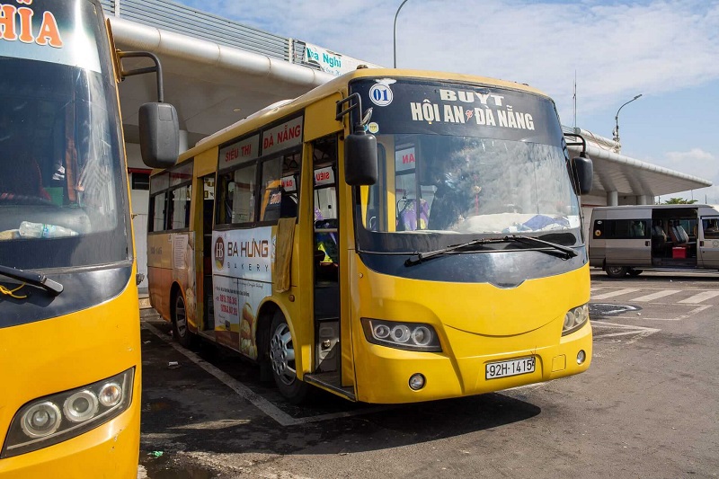
[[[611,278],[644,270],[719,270],[719,210],[627,205],[591,212],[590,266]]]

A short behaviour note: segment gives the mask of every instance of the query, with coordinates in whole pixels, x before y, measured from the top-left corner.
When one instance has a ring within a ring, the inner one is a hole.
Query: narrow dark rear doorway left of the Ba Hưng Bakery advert
[[[202,191],[202,230],[196,233],[196,237],[202,238],[202,271],[199,271],[202,279],[200,295],[201,316],[199,332],[213,336],[215,332],[215,302],[213,301],[212,288],[212,218],[215,205],[215,173],[200,178]],[[198,228],[199,229],[199,228]]]

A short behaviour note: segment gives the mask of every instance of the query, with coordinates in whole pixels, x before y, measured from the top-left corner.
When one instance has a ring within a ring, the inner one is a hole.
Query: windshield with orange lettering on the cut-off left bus
[[[42,19],[33,43],[20,41],[22,8]],[[126,260],[127,177],[100,12],[86,0],[36,0],[11,13],[19,40],[5,35],[0,56],[0,264]]]

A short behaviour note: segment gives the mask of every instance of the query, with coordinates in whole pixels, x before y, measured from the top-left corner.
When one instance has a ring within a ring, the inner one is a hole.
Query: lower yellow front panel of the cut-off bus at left
[[[23,404],[136,368],[128,410],[74,438],[0,459],[3,479],[137,476],[142,374],[134,272],[120,296],[101,305],[0,329],[0,444]]]

